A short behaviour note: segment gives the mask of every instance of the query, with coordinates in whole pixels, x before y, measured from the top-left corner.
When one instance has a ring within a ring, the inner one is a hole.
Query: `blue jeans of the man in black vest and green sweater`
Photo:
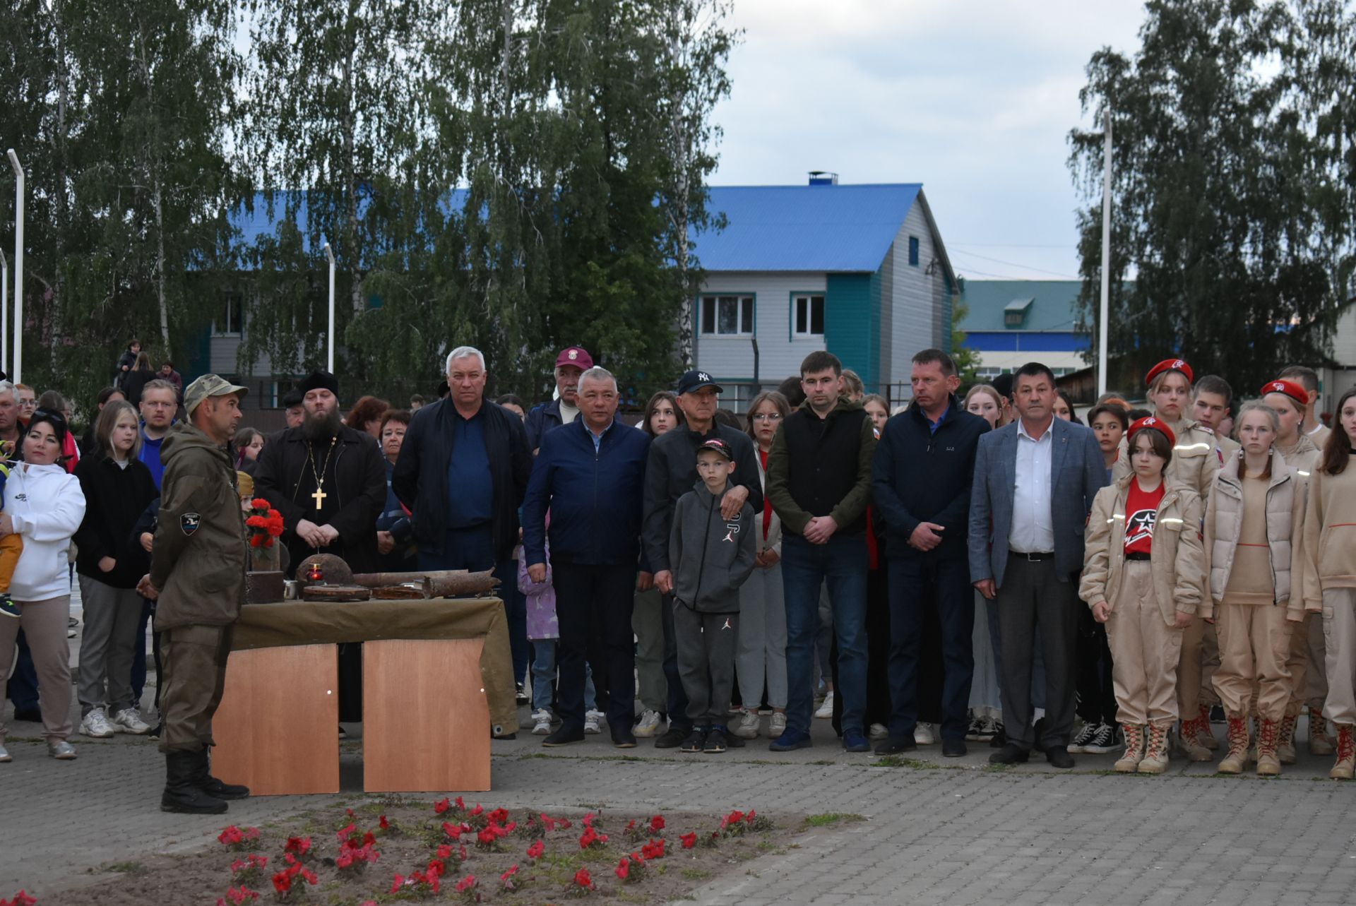
[[[786,598],[786,730],[810,732],[815,703],[815,631],[819,586],[829,583],[838,640],[838,686],[843,734],[862,732],[866,711],[866,536],[834,534],[811,544],[786,534],[781,578]]]

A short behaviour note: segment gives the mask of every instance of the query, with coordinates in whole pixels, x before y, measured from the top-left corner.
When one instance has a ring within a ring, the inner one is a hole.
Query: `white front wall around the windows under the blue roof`
[[[755,273],[706,271],[702,296],[754,297],[754,330],[758,338],[758,380],[776,385],[800,373],[800,361],[824,349],[824,338],[791,338],[791,297],[800,293],[824,293],[823,273]],[[701,308],[697,309],[697,368],[727,381],[754,377],[754,350],[749,336],[702,334]]]

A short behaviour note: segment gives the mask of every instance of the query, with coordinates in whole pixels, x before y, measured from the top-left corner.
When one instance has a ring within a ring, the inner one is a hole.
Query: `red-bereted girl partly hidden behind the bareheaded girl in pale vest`
[[[1318,465],[1318,448],[1304,434],[1304,407],[1309,393],[1298,381],[1275,380],[1261,388],[1262,401],[1276,410],[1280,416],[1280,434],[1276,437],[1276,452],[1285,458],[1285,465],[1295,469],[1300,484],[1309,487],[1309,476]],[[1285,719],[1280,726],[1280,762],[1295,764],[1295,724],[1299,709],[1304,705],[1306,692],[1310,698],[1328,694],[1328,678],[1323,675],[1322,650],[1310,654],[1309,618],[1291,633],[1290,639],[1290,703],[1285,705]],[[1333,754],[1333,741],[1328,735],[1328,720],[1322,707],[1310,713],[1309,750],[1315,755]]]

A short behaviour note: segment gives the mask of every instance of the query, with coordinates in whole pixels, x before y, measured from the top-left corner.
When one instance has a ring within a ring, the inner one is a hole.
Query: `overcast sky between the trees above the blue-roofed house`
[[[1142,0],[735,0],[711,182],[921,182],[957,273],[1077,278],[1066,137],[1089,57],[1134,53],[1142,20]]]

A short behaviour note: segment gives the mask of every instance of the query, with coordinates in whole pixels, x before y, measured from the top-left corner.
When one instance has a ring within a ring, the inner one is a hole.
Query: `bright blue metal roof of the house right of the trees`
[[[696,235],[705,270],[865,271],[880,269],[919,183],[712,186],[708,209],[725,228]]]

